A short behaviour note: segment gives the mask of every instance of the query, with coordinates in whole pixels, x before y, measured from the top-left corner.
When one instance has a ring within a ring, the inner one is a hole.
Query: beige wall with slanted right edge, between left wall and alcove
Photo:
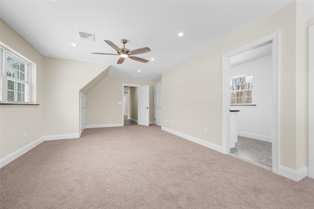
[[[108,65],[45,57],[45,135],[79,133],[79,90]]]

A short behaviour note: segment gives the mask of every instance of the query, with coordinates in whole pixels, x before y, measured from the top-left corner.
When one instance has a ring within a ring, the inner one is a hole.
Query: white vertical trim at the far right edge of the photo
[[[309,27],[309,177],[314,178],[314,25]]]

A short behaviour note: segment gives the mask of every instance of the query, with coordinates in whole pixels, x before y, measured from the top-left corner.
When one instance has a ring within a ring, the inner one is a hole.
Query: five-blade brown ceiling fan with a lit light
[[[109,40],[104,40],[105,43],[107,43],[109,46],[111,46],[112,48],[114,48],[118,54],[111,54],[111,53],[95,53],[95,52],[92,52],[93,54],[107,54],[107,55],[120,55],[121,58],[118,60],[117,64],[122,64],[125,60],[126,57],[129,57],[131,58],[132,60],[135,60],[135,61],[139,61],[139,62],[143,62],[143,63],[147,63],[148,60],[145,60],[143,58],[140,58],[140,57],[135,57],[133,56],[134,54],[142,54],[142,53],[146,53],[146,52],[149,52],[151,51],[151,49],[149,47],[144,47],[144,48],[138,48],[138,49],[135,49],[135,50],[132,50],[130,51],[130,49],[127,49],[125,47],[125,44],[128,42],[127,39],[121,39],[121,42],[123,43],[123,47],[122,48],[119,48],[117,45],[113,44],[111,41]]]

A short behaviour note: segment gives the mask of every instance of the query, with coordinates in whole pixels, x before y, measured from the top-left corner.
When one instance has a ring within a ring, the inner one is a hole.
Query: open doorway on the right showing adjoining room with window
[[[230,58],[230,154],[272,170],[272,42]],[[236,126],[236,127],[234,127]]]

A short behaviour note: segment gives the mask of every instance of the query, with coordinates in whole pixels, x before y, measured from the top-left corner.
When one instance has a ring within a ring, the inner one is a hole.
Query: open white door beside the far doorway
[[[137,124],[149,126],[149,86],[137,87],[138,115]]]

